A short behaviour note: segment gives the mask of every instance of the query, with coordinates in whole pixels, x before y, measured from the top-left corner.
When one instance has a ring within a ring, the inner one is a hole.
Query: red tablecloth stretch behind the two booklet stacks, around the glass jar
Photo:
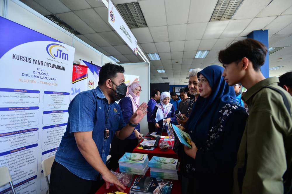
[[[167,135],[167,134],[166,134]],[[160,143],[159,140],[158,145]],[[159,146],[157,146],[154,150],[141,150],[141,149],[137,149],[139,147],[136,146],[136,148],[133,150],[133,153],[141,153],[141,154],[148,154],[148,158],[149,160],[152,158],[152,156],[160,156],[160,157],[168,157],[168,158],[178,158],[178,155],[172,150],[172,149],[168,149],[167,151],[161,151],[159,149]]]

